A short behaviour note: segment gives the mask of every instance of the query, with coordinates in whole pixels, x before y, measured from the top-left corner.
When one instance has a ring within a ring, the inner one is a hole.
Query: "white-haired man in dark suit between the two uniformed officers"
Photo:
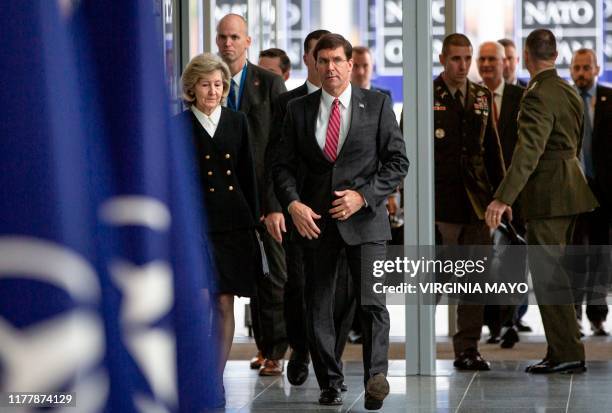
[[[504,56],[504,46],[500,43],[484,42],[478,49],[476,64],[482,82],[492,95],[493,124],[499,136],[504,164],[507,169],[510,166],[514,145],[516,145],[518,134],[516,119],[524,89],[504,82]],[[519,235],[524,235],[524,231],[522,231],[523,226],[517,218],[517,216],[514,217],[513,224],[517,228]],[[527,261],[525,261],[523,266],[517,265],[517,269],[521,270],[525,275],[525,281],[527,276],[526,266]],[[510,305],[485,306],[485,323],[491,331],[491,337],[487,342],[497,343],[500,341],[501,327],[506,322],[512,324],[514,309],[515,306]],[[501,337],[501,346],[502,348],[511,348],[518,341],[517,331],[511,325]]]

